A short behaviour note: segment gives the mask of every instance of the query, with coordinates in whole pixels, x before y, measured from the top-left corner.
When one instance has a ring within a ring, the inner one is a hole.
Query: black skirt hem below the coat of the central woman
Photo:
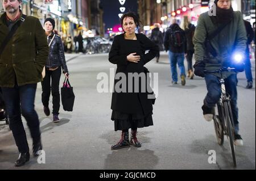
[[[112,111],[111,120],[114,121],[115,131],[124,129],[136,129],[153,125],[152,112],[143,113],[122,113]]]

